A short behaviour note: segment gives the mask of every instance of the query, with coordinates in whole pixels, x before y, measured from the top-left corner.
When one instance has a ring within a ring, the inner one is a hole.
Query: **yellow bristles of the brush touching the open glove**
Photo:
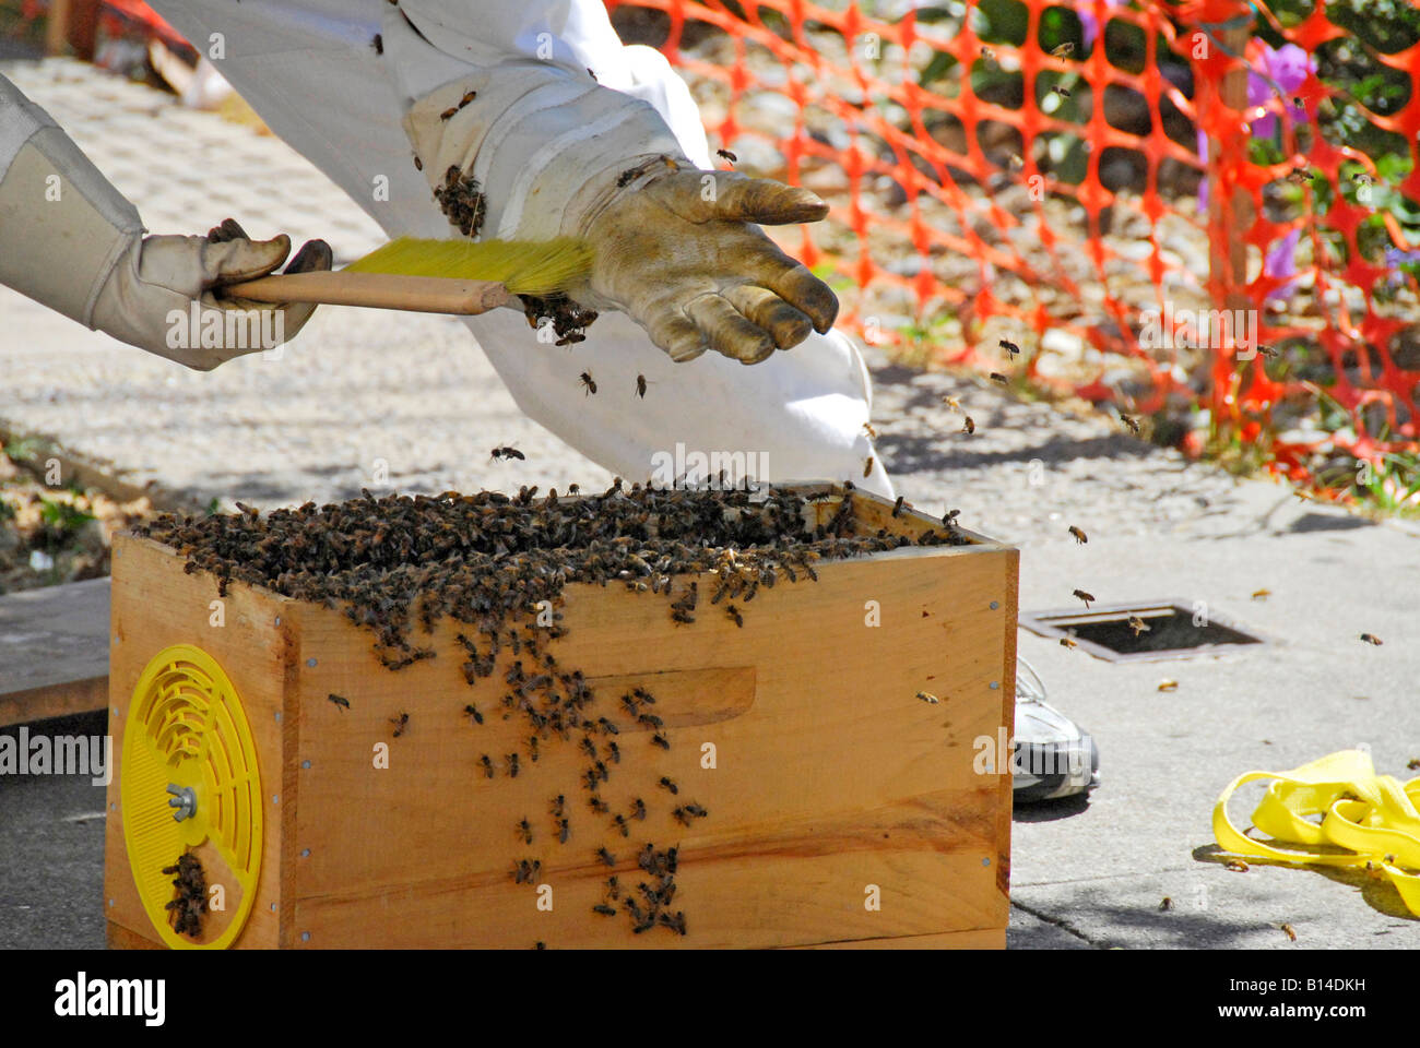
[[[515,295],[550,295],[586,275],[592,268],[592,249],[575,237],[483,243],[399,237],[345,268],[349,273],[496,280]]]

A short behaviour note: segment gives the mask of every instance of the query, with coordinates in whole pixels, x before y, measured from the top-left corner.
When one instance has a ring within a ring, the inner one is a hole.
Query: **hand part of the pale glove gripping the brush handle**
[[[91,324],[196,371],[212,371],[233,356],[273,349],[295,337],[315,305],[224,297],[222,287],[273,273],[290,250],[291,239],[284,233],[273,240],[251,240],[233,219],[206,237],[135,239],[99,291]],[[331,261],[329,244],[310,240],[284,273],[328,270]],[[230,331],[229,310],[247,314]],[[263,317],[264,311],[271,315]]]

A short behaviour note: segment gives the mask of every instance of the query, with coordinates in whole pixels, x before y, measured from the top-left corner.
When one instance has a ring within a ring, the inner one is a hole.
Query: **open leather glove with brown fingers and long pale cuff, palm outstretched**
[[[569,297],[625,311],[676,361],[716,349],[755,364],[834,324],[834,293],[754,224],[816,222],[828,206],[697,170],[646,102],[555,65],[508,64],[426,94],[405,131],[454,224],[476,195],[476,234],[585,239],[595,263]]]

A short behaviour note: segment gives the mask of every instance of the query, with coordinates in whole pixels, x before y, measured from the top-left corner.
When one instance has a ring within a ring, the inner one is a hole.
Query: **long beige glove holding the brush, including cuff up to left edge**
[[[220,297],[275,270],[290,239],[253,241],[230,219],[206,237],[143,237],[133,204],[3,77],[0,111],[0,284],[199,371],[273,348],[310,318],[311,305]],[[287,273],[329,267],[312,240]]]

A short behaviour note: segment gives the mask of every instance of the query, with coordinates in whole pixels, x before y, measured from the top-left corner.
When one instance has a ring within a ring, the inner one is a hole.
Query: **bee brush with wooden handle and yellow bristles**
[[[514,294],[557,294],[591,264],[591,249],[572,237],[531,243],[399,237],[344,270],[258,277],[223,291],[258,302],[471,315],[504,305]]]

